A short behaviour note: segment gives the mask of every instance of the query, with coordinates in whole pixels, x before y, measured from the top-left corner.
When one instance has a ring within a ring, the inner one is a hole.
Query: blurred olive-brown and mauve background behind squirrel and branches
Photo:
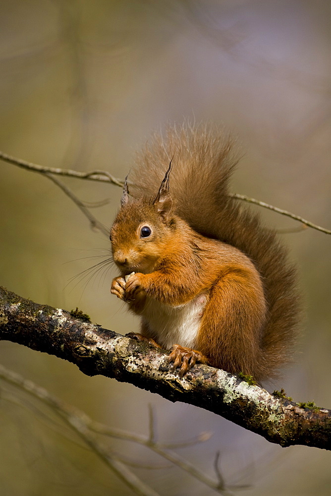
[[[152,129],[184,118],[222,123],[243,155],[234,192],[331,229],[330,14],[324,0],[2,1],[0,149],[123,178]],[[47,178],[4,162],[0,178],[0,284],[38,303],[78,306],[116,332],[137,330],[110,295],[114,269],[70,282],[107,255],[107,238]],[[111,225],[120,188],[63,181],[84,201],[109,198],[93,213]],[[279,230],[300,227],[257,209]],[[306,319],[293,367],[269,390],[331,408],[331,237],[312,229],[279,236],[298,266]],[[0,343],[0,361],[110,426],[146,433],[152,404],[161,441],[213,433],[178,453],[212,476],[219,450],[226,483],[250,486],[243,496],[331,493],[324,450],[281,448],[203,409],[87,377],[10,342]],[[133,494],[45,407],[0,386],[2,495]],[[160,466],[132,470],[161,495],[215,494],[139,445],[107,446]]]

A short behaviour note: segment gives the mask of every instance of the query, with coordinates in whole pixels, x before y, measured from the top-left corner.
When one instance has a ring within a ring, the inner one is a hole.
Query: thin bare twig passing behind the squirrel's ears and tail
[[[26,162],[25,160],[21,160],[21,159],[12,157],[12,156],[7,155],[6,153],[3,153],[3,152],[0,152],[0,159],[4,160],[5,162],[9,162],[10,164],[14,164],[14,165],[17,165],[17,166],[22,167],[24,169],[27,169],[29,171],[39,172],[41,174],[46,174],[46,173],[57,174],[60,176],[68,176],[68,177],[73,177],[73,178],[78,178],[78,179],[87,179],[90,181],[99,181],[99,182],[103,182],[103,183],[111,183],[115,186],[120,186],[120,187],[123,187],[123,184],[124,184],[123,181],[121,181],[120,179],[114,178],[107,171],[95,170],[95,171],[91,171],[91,172],[80,172],[80,171],[74,171],[71,169],[60,169],[57,167],[44,167],[41,165],[33,164],[32,162]],[[259,205],[261,207],[268,208],[269,210],[273,210],[274,212],[277,212],[281,215],[285,215],[286,217],[290,217],[291,219],[299,221],[302,224],[305,224],[306,226],[311,227],[312,229],[316,229],[317,231],[321,231],[322,233],[331,234],[331,230],[329,230],[329,229],[318,226],[317,224],[313,224],[312,222],[310,222],[306,219],[303,219],[299,215],[292,214],[291,212],[288,212],[287,210],[283,210],[283,209],[275,207],[273,205],[269,205],[268,203],[265,203],[264,201],[256,200],[255,198],[250,198],[249,196],[246,196],[244,194],[239,194],[239,193],[229,193],[229,196],[231,198],[236,198],[238,200],[247,201],[248,203],[254,203],[255,205]]]

